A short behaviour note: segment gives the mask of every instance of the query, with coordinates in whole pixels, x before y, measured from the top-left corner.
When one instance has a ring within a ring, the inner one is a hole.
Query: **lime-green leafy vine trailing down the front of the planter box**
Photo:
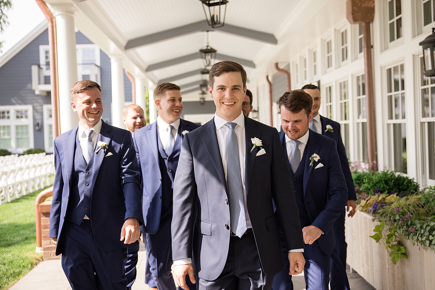
[[[385,241],[385,249],[390,250],[390,258],[393,264],[396,264],[399,258],[408,259],[406,255],[406,249],[402,246],[402,243],[399,240],[398,232],[395,226],[388,228],[388,234],[384,235],[382,231],[385,228],[384,220],[381,220],[381,223],[378,224],[373,230],[375,234],[370,236],[376,243],[379,243],[381,240]]]

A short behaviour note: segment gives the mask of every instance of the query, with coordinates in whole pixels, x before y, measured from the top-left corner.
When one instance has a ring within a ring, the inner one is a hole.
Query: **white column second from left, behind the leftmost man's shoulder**
[[[124,109],[124,70],[122,58],[111,57],[112,66],[112,126],[125,129],[122,122],[122,109]]]

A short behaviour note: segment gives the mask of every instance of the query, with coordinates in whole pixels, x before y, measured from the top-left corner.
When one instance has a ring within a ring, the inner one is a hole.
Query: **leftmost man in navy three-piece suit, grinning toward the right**
[[[71,88],[79,125],[54,140],[50,237],[73,290],[125,290],[127,245],[140,237],[140,173],[131,133],[101,120],[101,87]]]

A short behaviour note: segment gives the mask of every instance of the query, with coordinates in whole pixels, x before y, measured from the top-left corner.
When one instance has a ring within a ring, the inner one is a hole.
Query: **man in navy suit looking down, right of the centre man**
[[[312,104],[303,90],[284,93],[278,103],[280,137],[304,234],[306,289],[328,290],[330,255],[335,247],[333,224],[346,205],[348,192],[335,140],[309,129]],[[287,254],[285,247],[283,254]],[[277,274],[272,289],[293,289],[288,271]]]

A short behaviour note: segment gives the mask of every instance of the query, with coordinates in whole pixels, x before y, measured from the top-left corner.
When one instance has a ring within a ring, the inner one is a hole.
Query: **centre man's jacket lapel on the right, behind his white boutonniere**
[[[245,188],[246,188],[246,195],[248,196],[249,192],[249,185],[251,183],[251,177],[252,177],[252,171],[254,170],[254,163],[256,154],[258,152],[258,147],[255,147],[254,150],[252,150],[252,153],[250,153],[252,149],[252,141],[251,138],[257,137],[258,139],[261,139],[261,129],[257,128],[254,122],[251,122],[251,119],[248,117],[245,118],[245,140],[246,140],[246,157],[245,157]],[[266,150],[266,149],[264,149]]]

